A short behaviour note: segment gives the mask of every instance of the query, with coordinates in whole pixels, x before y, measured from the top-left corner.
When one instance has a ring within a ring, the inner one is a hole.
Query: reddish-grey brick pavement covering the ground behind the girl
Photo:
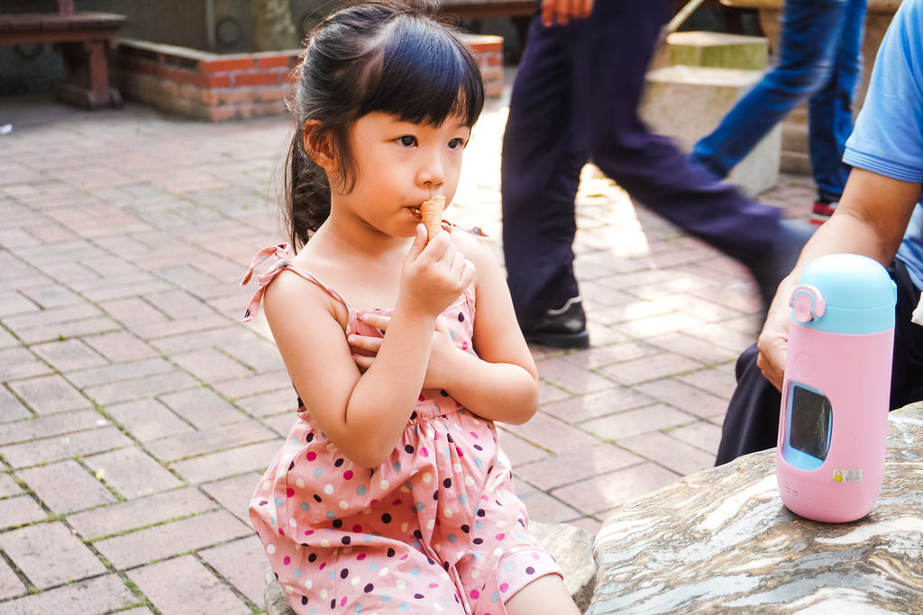
[[[452,219],[500,255],[491,101]],[[0,101],[0,611],[246,613],[246,501],[293,417],[265,321],[238,322],[281,237],[287,123]],[[804,215],[809,180],[766,202]],[[745,271],[585,171],[577,270],[593,348],[534,348],[533,420],[501,427],[533,517],[607,511],[710,467],[757,302]]]

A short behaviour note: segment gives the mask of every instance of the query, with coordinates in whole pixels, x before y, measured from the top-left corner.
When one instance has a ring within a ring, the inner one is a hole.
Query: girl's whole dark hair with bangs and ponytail
[[[464,43],[420,6],[391,0],[345,6],[321,21],[307,37],[300,71],[285,178],[285,221],[296,249],[330,215],[327,175],[304,148],[307,121],[318,121],[313,138],[330,149],[338,187],[349,192],[349,133],[366,113],[434,126],[460,117],[473,126],[484,108],[481,73]]]

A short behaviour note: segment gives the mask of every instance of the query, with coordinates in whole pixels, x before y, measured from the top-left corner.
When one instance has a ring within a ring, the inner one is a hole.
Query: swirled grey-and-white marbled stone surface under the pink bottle
[[[587,613],[923,613],[923,406],[889,418],[881,495],[846,524],[790,513],[775,451],[624,504],[595,545]]]

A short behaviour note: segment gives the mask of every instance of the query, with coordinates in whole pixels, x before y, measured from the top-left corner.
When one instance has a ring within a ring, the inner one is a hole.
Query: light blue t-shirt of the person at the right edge
[[[843,161],[893,179],[923,182],[923,0],[904,0],[881,41]],[[921,203],[897,257],[923,289]]]

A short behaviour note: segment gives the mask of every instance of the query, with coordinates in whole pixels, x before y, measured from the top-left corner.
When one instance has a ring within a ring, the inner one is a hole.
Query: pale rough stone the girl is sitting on
[[[529,524],[533,536],[545,546],[564,571],[564,585],[577,603],[581,612],[590,605],[593,587],[596,585],[596,564],[593,562],[593,534],[577,526],[566,523]],[[282,585],[276,580],[272,571],[266,574],[266,587],[263,590],[267,615],[294,615],[289,606]]]

